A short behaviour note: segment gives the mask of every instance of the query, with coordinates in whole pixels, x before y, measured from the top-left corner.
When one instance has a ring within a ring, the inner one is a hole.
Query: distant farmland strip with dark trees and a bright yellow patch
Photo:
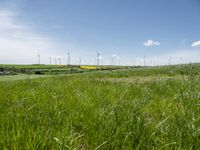
[[[122,66],[78,66],[78,65],[0,65],[0,76],[3,75],[58,75],[94,72],[100,70],[117,70],[131,67]]]

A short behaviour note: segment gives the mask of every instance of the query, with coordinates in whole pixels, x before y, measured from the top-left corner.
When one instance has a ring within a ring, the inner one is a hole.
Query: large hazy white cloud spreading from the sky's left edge
[[[61,44],[26,23],[19,24],[17,15],[9,9],[0,9],[0,63],[36,63],[38,52],[41,63],[48,63],[48,56],[56,55]]]

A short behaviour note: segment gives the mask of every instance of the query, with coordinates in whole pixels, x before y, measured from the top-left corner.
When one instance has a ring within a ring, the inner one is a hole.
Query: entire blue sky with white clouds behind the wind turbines
[[[0,63],[200,61],[199,16],[199,0],[0,0]]]

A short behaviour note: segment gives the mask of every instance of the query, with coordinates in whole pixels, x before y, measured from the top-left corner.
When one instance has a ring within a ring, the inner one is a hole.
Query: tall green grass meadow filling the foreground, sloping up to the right
[[[0,82],[0,149],[198,149],[200,66]]]

